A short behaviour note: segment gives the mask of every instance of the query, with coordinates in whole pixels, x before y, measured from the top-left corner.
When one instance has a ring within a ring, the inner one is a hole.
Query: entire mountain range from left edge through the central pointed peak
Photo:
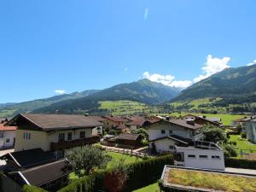
[[[53,96],[31,102],[16,103],[2,108],[0,116],[16,113],[85,113],[95,111],[99,102],[128,100],[148,105],[167,102],[177,96],[180,90],[141,79],[130,84],[117,84],[104,90],[84,90],[72,94]]]

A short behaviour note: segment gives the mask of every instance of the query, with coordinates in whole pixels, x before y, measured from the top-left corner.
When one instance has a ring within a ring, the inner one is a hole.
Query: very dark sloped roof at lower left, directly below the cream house
[[[4,154],[0,159],[13,160],[17,166],[22,168],[38,166],[56,160],[53,153],[45,152],[42,148],[33,148]]]

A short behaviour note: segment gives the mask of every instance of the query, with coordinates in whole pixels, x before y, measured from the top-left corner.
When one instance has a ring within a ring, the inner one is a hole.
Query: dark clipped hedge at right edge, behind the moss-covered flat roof
[[[256,169],[256,160],[237,159],[230,157],[225,159],[225,166],[245,169]]]

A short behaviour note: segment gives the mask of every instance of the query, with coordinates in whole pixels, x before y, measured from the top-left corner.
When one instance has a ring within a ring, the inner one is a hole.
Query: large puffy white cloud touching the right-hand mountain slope
[[[224,68],[230,67],[228,63],[230,62],[230,57],[225,56],[220,59],[217,57],[212,57],[212,55],[207,55],[207,62],[205,66],[201,68],[202,73],[198,77],[196,77],[193,81],[194,83],[201,81],[202,79],[206,79],[210,77],[214,73],[221,72]]]

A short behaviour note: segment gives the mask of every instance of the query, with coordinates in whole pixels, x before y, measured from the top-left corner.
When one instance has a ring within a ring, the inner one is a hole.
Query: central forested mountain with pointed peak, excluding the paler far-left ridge
[[[117,84],[90,96],[64,102],[56,102],[46,108],[39,108],[33,113],[94,113],[99,112],[99,102],[128,100],[148,105],[167,102],[177,96],[179,90],[141,79],[129,84]]]

